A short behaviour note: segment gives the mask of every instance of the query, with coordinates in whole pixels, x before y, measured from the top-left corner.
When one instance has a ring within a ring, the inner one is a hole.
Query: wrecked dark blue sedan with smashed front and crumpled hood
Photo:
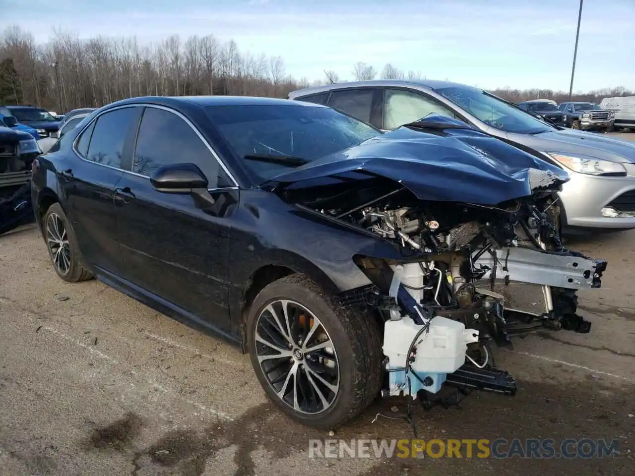
[[[57,274],[97,277],[248,352],[284,413],[378,395],[513,395],[491,345],[588,332],[606,262],[559,240],[560,168],[462,122],[382,133],[311,103],[133,98],[33,164]]]

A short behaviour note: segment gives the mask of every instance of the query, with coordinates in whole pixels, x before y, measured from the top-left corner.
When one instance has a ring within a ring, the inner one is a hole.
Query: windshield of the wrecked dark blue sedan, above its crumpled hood
[[[381,135],[378,129],[326,107],[238,105],[207,114],[246,168],[261,183],[290,167]],[[270,160],[267,160],[271,157]]]

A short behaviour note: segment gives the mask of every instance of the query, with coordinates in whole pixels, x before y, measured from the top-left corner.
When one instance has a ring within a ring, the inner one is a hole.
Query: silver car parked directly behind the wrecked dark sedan
[[[289,99],[340,109],[380,129],[445,114],[557,164],[570,175],[559,193],[562,225],[635,228],[635,145],[552,126],[497,96],[447,81],[377,80],[293,91]]]

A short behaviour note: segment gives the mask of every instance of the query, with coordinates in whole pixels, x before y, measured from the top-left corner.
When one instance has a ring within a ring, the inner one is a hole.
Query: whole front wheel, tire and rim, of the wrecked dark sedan
[[[305,275],[260,291],[246,329],[260,384],[298,423],[333,428],[380,391],[382,348],[373,317],[341,307]]]

